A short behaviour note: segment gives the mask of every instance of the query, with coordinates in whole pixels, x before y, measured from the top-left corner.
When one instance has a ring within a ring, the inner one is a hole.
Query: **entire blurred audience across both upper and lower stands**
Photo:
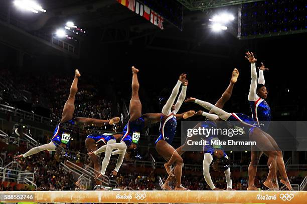
[[[69,88],[73,79],[73,75],[33,75],[29,74],[15,74],[9,70],[2,72],[2,76],[5,77],[8,84],[14,84],[22,94],[29,96],[32,102],[33,113],[36,113],[36,107],[42,107],[48,110],[48,114],[45,115],[50,117],[52,120],[59,121],[61,119],[62,110],[65,101],[69,95]],[[80,80],[81,81],[81,80]],[[111,118],[115,115],[112,113],[112,103],[109,100],[103,98],[100,93],[99,88],[96,88],[93,84],[85,84],[83,80],[78,84],[79,91],[75,99],[75,114],[74,116],[81,117],[94,117],[94,118]],[[8,86],[9,87],[9,86]],[[12,88],[12,87],[11,87]],[[1,90],[4,91],[4,90]],[[7,89],[6,91],[10,91]],[[1,94],[0,94],[1,96]],[[1,98],[3,102],[4,97]],[[10,101],[5,101],[5,104],[11,105]],[[232,105],[238,107],[236,103]],[[235,109],[233,107],[232,109]],[[118,115],[116,115],[118,116]],[[115,128],[121,129],[122,125],[116,125],[111,127],[110,130],[116,130]],[[93,127],[86,127],[85,132],[82,136],[91,133]],[[96,130],[105,130],[107,127],[94,127]],[[157,128],[158,129],[158,128]],[[7,133],[11,133],[9,130],[5,130]],[[81,138],[81,137],[80,137]],[[88,157],[86,154],[78,152],[79,150],[84,151],[84,140],[81,139],[82,145],[72,145],[71,150],[75,150],[70,154],[70,160],[76,163],[88,163]],[[44,138],[44,143],[49,142],[50,138]],[[21,146],[26,148],[25,143],[21,143]],[[150,160],[150,153],[154,155],[157,161],[164,161],[164,159],[159,156],[154,148],[147,149],[142,152],[142,160]],[[13,161],[13,153],[8,152],[6,149],[2,149],[0,156],[3,158],[3,163],[8,164]],[[231,158],[231,156],[229,156]],[[199,164],[201,165],[203,160],[203,153],[199,152],[187,152],[183,156],[186,164]],[[232,167],[240,165],[248,165],[250,155],[242,154],[241,159],[232,160],[230,159],[230,164]],[[19,160],[19,164],[22,169],[28,172],[34,172],[34,182],[40,189],[46,190],[69,190],[75,189],[75,178],[72,174],[64,171],[60,165],[63,158],[58,160],[53,159],[52,155],[48,151],[44,151],[32,156],[27,157],[27,159]],[[195,168],[196,169],[196,168]],[[266,176],[256,176],[255,184],[259,186],[260,189],[265,189],[263,182]],[[289,180],[291,183],[300,183],[302,181],[301,176],[291,176]],[[219,176],[212,176],[212,180],[216,187],[226,189],[225,177],[221,174]],[[160,189],[159,186],[159,175],[154,171],[150,173],[140,173],[140,172],[125,172],[121,171],[116,177],[116,182],[121,189],[129,186],[135,190],[155,190]],[[206,181],[202,175],[195,175],[193,173],[183,173],[182,178],[183,185],[191,190],[207,190],[210,189],[206,184]],[[247,177],[233,178],[232,188],[236,190],[246,190],[248,184]],[[281,186],[281,183],[279,183]],[[14,187],[0,186],[1,190],[14,190]],[[24,188],[26,189],[26,187]]]

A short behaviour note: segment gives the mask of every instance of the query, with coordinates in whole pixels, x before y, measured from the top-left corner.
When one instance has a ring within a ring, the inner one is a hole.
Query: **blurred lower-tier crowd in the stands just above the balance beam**
[[[8,164],[13,161],[13,153],[8,152],[6,149],[2,149],[0,156],[4,160],[4,164]],[[72,173],[65,171],[60,162],[64,162],[64,157],[60,157],[59,159],[54,159],[54,157],[48,152],[43,151],[38,154],[34,154],[32,156],[27,157],[26,159],[19,160],[19,164],[22,167],[22,170],[26,172],[34,172],[34,183],[36,183],[38,189],[42,190],[71,190],[76,189],[75,182],[76,178],[74,178]],[[72,155],[71,160],[75,163],[80,163],[82,166],[84,163],[88,163],[88,157],[85,155],[81,155],[80,153],[76,153]],[[140,168],[141,170],[141,168]],[[149,173],[146,172],[138,172],[137,170],[131,171],[129,170],[129,166],[123,166],[119,171],[119,174],[115,178],[119,188],[121,189],[135,189],[135,190],[159,190],[159,176],[161,174],[156,173],[155,170],[152,170]],[[162,176],[162,179],[166,179]],[[232,177],[232,188],[235,190],[246,190],[248,179],[247,177]],[[266,175],[256,176],[255,184],[261,190],[266,189],[263,185],[264,180],[266,179]],[[225,181],[224,174],[212,173],[212,180],[215,183],[215,186],[218,188],[226,189],[227,184]],[[289,181],[291,183],[301,183],[303,177],[291,176],[289,177]],[[14,179],[9,179],[9,181],[16,181]],[[185,187],[191,190],[210,190],[210,187],[207,185],[204,176],[199,172],[183,172],[182,183]],[[171,183],[172,184],[172,183]],[[279,186],[282,186],[279,183]],[[27,186],[25,186],[26,188]],[[3,190],[14,190],[14,187],[5,187],[1,186]],[[23,188],[24,189],[24,188]],[[23,190],[22,189],[22,190]]]

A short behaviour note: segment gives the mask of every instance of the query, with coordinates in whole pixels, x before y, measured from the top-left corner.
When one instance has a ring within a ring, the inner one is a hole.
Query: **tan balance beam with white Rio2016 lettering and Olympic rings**
[[[31,196],[32,195],[32,196]],[[24,198],[25,197],[25,198]],[[86,190],[1,191],[0,202],[307,203],[307,191]]]

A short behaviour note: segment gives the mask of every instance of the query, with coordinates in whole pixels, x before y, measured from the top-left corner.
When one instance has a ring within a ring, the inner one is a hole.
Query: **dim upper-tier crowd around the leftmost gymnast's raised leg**
[[[2,77],[6,80],[6,84],[14,84],[13,86],[29,99],[28,102],[32,103],[31,111],[36,113],[37,107],[45,108],[49,110],[49,115],[43,116],[50,117],[55,121],[61,119],[62,110],[68,98],[69,89],[73,80],[73,73],[66,76],[64,74],[17,74],[8,69],[1,71]],[[85,83],[85,81],[90,82]],[[91,82],[92,80],[83,80],[78,83],[74,116],[111,118],[113,116],[111,101],[106,100],[100,94],[99,88],[95,87],[93,82]],[[6,91],[13,91],[13,89],[8,88]],[[4,98],[2,100],[3,103],[10,105],[11,101],[5,101]]]

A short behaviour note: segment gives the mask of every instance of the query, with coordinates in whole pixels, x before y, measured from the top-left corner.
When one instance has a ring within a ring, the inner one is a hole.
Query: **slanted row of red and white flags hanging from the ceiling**
[[[164,17],[157,12],[149,8],[147,5],[137,0],[117,0],[120,4],[126,6],[133,12],[143,16],[149,20],[152,24],[157,25],[160,29],[163,29]]]

